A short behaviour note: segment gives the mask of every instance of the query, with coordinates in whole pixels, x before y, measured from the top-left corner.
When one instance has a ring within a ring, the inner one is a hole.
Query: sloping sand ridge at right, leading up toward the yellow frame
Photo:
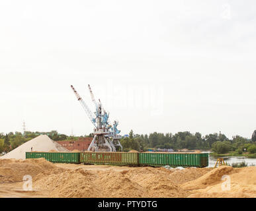
[[[233,173],[233,171],[234,169],[231,166],[220,166],[216,169],[212,169],[212,171],[206,173],[205,175],[199,177],[194,181],[189,181],[188,183],[183,184],[182,187],[186,190],[203,189],[208,185],[214,185],[216,183],[219,183],[223,175],[228,175],[230,173]]]

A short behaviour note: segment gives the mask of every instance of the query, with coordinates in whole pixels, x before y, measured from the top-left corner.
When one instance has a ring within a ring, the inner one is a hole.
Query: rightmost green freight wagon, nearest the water
[[[140,153],[139,163],[142,166],[207,167],[208,154]]]

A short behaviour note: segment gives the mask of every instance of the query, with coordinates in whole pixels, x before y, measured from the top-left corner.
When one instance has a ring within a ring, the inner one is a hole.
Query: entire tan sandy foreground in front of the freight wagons
[[[31,176],[32,191],[23,189],[24,175]],[[180,170],[1,159],[0,197],[256,197],[256,167]]]

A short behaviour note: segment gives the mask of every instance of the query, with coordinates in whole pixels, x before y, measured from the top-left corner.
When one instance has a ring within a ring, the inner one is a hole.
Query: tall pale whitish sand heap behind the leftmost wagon
[[[32,140],[28,140],[21,146],[15,148],[11,152],[1,156],[1,158],[15,158],[15,159],[26,159],[26,152],[39,151],[39,152],[48,152],[50,150],[56,152],[69,152],[62,145],[54,142],[54,140],[50,139],[47,135],[40,135]]]

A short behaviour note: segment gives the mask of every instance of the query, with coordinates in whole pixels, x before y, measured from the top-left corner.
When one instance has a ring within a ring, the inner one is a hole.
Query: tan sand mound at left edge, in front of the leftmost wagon
[[[22,181],[24,175],[34,177],[42,171],[57,168],[44,158],[15,160],[0,159],[0,183]]]

